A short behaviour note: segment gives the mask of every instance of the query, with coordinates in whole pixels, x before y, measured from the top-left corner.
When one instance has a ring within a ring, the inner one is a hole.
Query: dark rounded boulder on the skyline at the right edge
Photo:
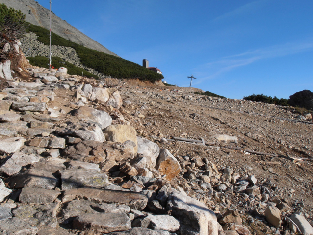
[[[313,110],[313,92],[309,90],[296,92],[289,97],[288,104]]]

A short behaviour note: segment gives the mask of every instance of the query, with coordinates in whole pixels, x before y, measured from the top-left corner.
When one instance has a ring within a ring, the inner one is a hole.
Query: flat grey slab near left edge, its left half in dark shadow
[[[52,175],[52,172],[28,169],[14,174],[6,180],[10,188],[18,189],[24,187],[53,189],[59,180]]]

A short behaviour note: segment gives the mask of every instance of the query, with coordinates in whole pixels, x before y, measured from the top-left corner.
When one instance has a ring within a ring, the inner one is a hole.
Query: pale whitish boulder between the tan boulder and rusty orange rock
[[[138,155],[145,157],[147,161],[147,167],[154,168],[156,166],[156,159],[160,154],[160,148],[158,145],[150,140],[137,137]]]

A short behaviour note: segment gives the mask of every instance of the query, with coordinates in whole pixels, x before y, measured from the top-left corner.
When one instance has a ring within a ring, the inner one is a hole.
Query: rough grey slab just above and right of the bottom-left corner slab
[[[32,226],[46,225],[55,228],[58,225],[56,211],[59,203],[45,205],[22,205],[12,210],[14,217],[22,219]]]

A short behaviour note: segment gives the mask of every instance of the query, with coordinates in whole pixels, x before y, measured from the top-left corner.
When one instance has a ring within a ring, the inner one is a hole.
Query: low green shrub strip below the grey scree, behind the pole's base
[[[47,57],[36,56],[36,57],[27,57],[27,59],[29,60],[29,63],[33,66],[39,66],[39,67],[49,69],[49,59]],[[83,75],[86,76],[87,78],[91,78],[91,77],[99,78],[97,75],[89,73],[88,71],[82,68],[78,68],[74,64],[71,64],[69,62],[65,62],[65,64],[61,64],[59,62],[64,62],[64,61],[59,57],[52,57],[52,61],[51,61],[52,66],[54,66],[55,68],[58,68],[58,67],[67,68],[68,74],[82,75],[82,72],[83,72]]]

